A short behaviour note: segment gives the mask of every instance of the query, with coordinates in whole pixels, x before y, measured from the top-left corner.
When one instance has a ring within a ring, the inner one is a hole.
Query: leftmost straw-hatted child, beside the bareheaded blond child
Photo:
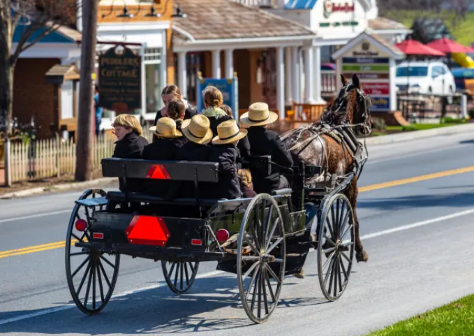
[[[175,120],[170,117],[158,119],[156,126],[150,127],[150,131],[156,136],[156,140],[143,149],[142,159],[145,160],[175,160],[178,149],[188,141],[177,130]]]

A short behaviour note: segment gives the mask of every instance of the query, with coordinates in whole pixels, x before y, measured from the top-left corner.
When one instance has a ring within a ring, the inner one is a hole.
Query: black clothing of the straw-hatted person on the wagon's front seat
[[[272,161],[279,166],[290,168],[293,160],[289,152],[283,147],[278,133],[269,131],[262,126],[249,128],[247,135],[250,142],[250,151],[253,156],[271,155]],[[253,180],[253,189],[258,193],[271,193],[278,189],[280,184],[281,168],[272,164],[272,174],[262,174],[250,168]]]

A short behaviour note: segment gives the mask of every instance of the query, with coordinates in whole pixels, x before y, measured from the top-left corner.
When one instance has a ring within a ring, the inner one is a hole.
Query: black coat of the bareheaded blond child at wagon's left
[[[121,159],[142,159],[143,148],[148,145],[147,139],[138,136],[136,133],[128,133],[122,140],[115,142],[114,154],[112,157]],[[140,179],[127,179],[128,191],[141,191],[142,181]],[[119,178],[119,189],[124,191],[124,180]]]

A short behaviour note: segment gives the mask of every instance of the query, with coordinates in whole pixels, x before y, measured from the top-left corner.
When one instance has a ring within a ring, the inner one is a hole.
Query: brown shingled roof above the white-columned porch
[[[274,38],[316,34],[308,27],[229,0],[179,0],[186,17],[174,17],[173,28],[184,40]]]

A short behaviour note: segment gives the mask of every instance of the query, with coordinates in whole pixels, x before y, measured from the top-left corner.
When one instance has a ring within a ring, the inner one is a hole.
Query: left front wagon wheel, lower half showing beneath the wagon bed
[[[161,268],[168,287],[177,294],[184,294],[194,284],[199,262],[161,261]]]

